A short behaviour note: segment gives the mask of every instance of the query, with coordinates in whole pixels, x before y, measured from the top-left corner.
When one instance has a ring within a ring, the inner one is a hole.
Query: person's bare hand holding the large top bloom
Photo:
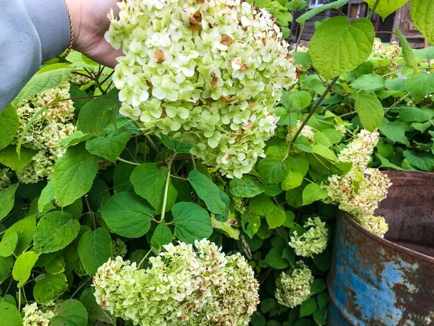
[[[116,58],[123,55],[105,40],[104,34],[110,26],[108,15],[119,8],[116,0],[66,0],[71,13],[74,31],[72,49],[83,53],[107,67],[114,67]]]

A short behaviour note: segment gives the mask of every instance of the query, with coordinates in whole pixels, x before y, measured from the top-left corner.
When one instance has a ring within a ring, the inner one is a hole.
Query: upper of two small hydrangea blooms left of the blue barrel
[[[302,257],[313,257],[319,254],[327,247],[329,240],[329,232],[326,223],[321,221],[321,218],[309,217],[303,227],[306,232],[298,234],[295,231],[290,236],[289,246],[294,248],[295,255]]]

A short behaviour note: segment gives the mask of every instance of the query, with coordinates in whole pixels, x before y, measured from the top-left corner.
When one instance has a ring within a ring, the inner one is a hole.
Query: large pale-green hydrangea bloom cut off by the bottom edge
[[[164,249],[146,270],[121,257],[98,268],[98,304],[134,325],[248,325],[259,284],[239,253],[206,239]]]

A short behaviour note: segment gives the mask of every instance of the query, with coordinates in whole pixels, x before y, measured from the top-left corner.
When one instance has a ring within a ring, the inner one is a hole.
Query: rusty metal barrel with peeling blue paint
[[[386,173],[385,239],[338,214],[327,325],[434,325],[434,173]]]

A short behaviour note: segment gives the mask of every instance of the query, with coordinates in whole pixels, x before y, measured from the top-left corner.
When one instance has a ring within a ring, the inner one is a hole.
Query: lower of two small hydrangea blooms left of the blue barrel
[[[311,296],[313,275],[303,261],[297,261],[289,271],[281,273],[276,280],[276,300],[293,308]]]

